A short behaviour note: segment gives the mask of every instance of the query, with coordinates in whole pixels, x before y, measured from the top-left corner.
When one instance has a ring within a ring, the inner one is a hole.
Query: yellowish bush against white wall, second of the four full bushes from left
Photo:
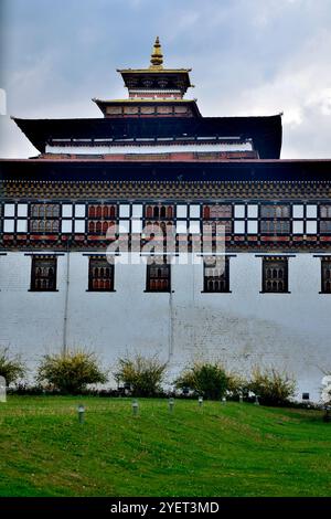
[[[154,396],[162,391],[166,368],[167,363],[160,362],[156,356],[136,354],[118,359],[114,377],[118,383],[128,385],[135,396]]]

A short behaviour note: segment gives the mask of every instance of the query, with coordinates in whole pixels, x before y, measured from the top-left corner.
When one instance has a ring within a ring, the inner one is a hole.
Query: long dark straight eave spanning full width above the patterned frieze
[[[224,160],[222,162],[111,162],[96,159],[2,159],[7,181],[117,182],[331,182],[331,159]],[[312,191],[313,193],[313,191]],[[313,197],[313,194],[312,194]]]

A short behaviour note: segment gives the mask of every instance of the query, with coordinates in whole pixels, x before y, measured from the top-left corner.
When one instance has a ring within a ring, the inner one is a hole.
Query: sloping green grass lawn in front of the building
[[[130,399],[9,396],[0,436],[0,496],[331,496],[318,411],[141,399],[134,417]]]

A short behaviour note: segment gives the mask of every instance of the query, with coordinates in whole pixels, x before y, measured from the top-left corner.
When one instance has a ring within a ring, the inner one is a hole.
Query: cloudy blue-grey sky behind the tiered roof
[[[0,0],[0,157],[36,150],[10,119],[99,117],[117,67],[192,67],[204,116],[284,113],[282,158],[331,157],[331,0]],[[7,115],[4,112],[4,94]]]

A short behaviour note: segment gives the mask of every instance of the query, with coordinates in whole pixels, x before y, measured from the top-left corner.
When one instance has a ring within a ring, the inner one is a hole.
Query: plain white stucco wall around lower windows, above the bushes
[[[30,288],[31,256],[0,256],[0,345],[33,370],[63,346],[66,256],[58,256],[56,293]],[[88,256],[70,255],[67,346],[97,351],[114,364],[126,351],[169,360],[170,380],[192,358],[221,359],[247,372],[255,363],[292,372],[298,395],[319,400],[322,369],[331,369],[331,296],[319,294],[320,258],[289,258],[290,294],[260,294],[261,258],[229,260],[231,294],[203,294],[203,266],[173,265],[172,293],[145,293],[146,265],[115,267],[115,293],[90,293]]]

